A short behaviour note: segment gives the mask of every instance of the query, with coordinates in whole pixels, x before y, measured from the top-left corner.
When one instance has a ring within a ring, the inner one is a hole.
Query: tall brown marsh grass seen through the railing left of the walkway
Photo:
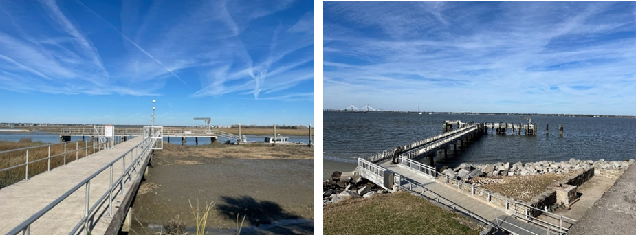
[[[7,142],[0,141],[0,151],[19,149],[19,148],[27,148],[33,146],[41,146],[45,145],[43,142],[33,142],[31,139],[20,139],[19,142]],[[56,157],[51,158],[51,169],[56,168],[58,166],[63,166],[65,159],[66,163],[75,161],[76,159],[81,159],[86,155],[91,155],[93,153],[98,152],[99,150],[94,150],[91,145],[93,142],[88,142],[89,148],[84,150],[85,143],[79,142],[78,151],[76,155],[76,144],[75,142],[67,142],[66,150],[64,147],[64,143],[55,144],[51,146],[51,156],[58,155]],[[30,148],[29,152],[29,179],[34,175],[38,175],[41,172],[46,172],[48,169],[48,160],[45,159],[49,156],[49,147],[42,146],[36,148]],[[66,154],[64,154],[66,152]],[[26,154],[27,150],[17,150],[12,151],[10,153],[0,153],[0,169],[9,168],[12,166],[17,166],[20,164],[25,164],[26,162]],[[38,161],[41,160],[41,161]],[[37,161],[37,162],[32,162]],[[0,172],[0,188],[4,188],[6,186],[10,186],[13,183],[17,183],[21,180],[25,179],[25,171],[26,166],[19,166],[17,168],[13,168],[10,170],[4,170]]]

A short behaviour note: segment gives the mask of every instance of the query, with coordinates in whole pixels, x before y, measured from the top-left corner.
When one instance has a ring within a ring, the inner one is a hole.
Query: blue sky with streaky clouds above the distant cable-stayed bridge
[[[636,2],[323,2],[324,109],[636,115]]]

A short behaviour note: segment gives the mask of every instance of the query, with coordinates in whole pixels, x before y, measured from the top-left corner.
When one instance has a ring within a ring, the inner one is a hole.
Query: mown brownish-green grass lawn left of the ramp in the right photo
[[[327,205],[322,216],[325,234],[454,235],[481,232],[478,225],[463,216],[443,210],[408,192],[345,199]]]

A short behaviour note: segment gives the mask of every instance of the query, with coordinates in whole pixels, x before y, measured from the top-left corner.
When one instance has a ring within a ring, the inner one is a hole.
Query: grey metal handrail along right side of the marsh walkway
[[[39,210],[38,212],[36,212],[35,214],[33,214],[32,216],[30,216],[28,219],[26,219],[25,221],[23,221],[22,223],[20,223],[17,227],[14,227],[13,230],[9,231],[8,234],[18,234],[19,232],[23,232],[23,234],[29,234],[29,230],[30,230],[30,226],[32,225],[32,223],[34,223],[36,220],[38,220],[41,216],[43,216],[44,214],[46,214],[47,212],[49,212],[50,210],[52,210],[56,205],[58,205],[59,203],[61,203],[62,201],[64,201],[65,199],[67,199],[71,194],[73,194],[74,192],[76,192],[79,188],[85,186],[86,187],[86,203],[85,203],[85,216],[80,220],[79,224],[82,223],[86,223],[86,221],[89,219],[89,217],[91,216],[91,214],[93,214],[94,212],[94,208],[96,208],[96,205],[102,203],[102,201],[104,201],[105,197],[102,196],[102,198],[100,200],[98,200],[95,205],[92,207],[93,209],[89,210],[89,197],[90,197],[90,181],[91,179],[93,179],[94,177],[96,177],[97,175],[99,175],[101,172],[103,172],[104,170],[106,170],[107,168],[110,168],[110,180],[111,180],[111,186],[109,188],[109,190],[107,190],[107,194],[110,194],[110,200],[109,200],[109,216],[112,216],[112,192],[113,189],[116,185],[121,184],[121,191],[123,194],[124,191],[124,183],[125,181],[122,181],[124,179],[124,175],[131,175],[131,169],[133,168],[133,160],[131,159],[131,164],[129,165],[129,167],[127,168],[127,170],[123,170],[122,168],[122,175],[121,177],[118,179],[118,181],[116,181],[114,184],[113,182],[113,164],[115,164],[117,161],[119,161],[120,159],[123,159],[122,164],[126,164],[126,155],[128,155],[129,153],[133,153],[133,151],[135,151],[137,157],[135,158],[134,163],[137,163],[140,158],[144,155],[146,155],[146,153],[148,153],[148,151],[150,150],[150,146],[152,146],[151,144],[153,144],[154,140],[151,138],[148,139],[144,139],[140,144],[137,144],[135,146],[133,146],[132,148],[130,148],[129,150],[126,151],[126,153],[123,153],[122,155],[120,155],[119,157],[117,157],[116,159],[114,159],[113,161],[111,161],[109,164],[107,164],[107,166],[104,166],[102,168],[100,168],[100,170],[97,170],[95,173],[93,173],[93,175],[90,175],[89,177],[87,177],[86,179],[84,179],[83,181],[81,181],[80,183],[78,183],[76,186],[74,186],[73,188],[71,188],[70,190],[68,190],[67,192],[65,192],[64,194],[62,194],[61,197],[58,197],[57,199],[55,199],[54,201],[52,201],[52,203],[49,203],[47,206],[45,206],[44,208],[42,208],[41,210]],[[141,153],[140,153],[141,152]],[[75,232],[77,232],[77,230],[79,229],[79,227],[81,226],[76,226],[74,228],[74,230],[72,230],[71,233],[69,234],[74,234]],[[87,234],[88,230],[85,230],[85,234]]]

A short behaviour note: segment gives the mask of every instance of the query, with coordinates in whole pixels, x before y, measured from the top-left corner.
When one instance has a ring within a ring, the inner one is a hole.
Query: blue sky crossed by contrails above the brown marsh
[[[0,0],[0,122],[314,122],[313,1]]]

